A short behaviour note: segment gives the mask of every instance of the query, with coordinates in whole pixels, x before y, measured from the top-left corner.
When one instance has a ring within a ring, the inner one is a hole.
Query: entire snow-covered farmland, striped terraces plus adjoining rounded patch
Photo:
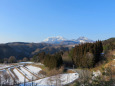
[[[1,65],[1,70],[0,70],[0,76],[2,77],[2,83],[7,83],[6,82],[6,75],[9,74],[9,80],[8,81],[10,84],[13,83],[15,80],[17,83],[23,83],[24,81],[26,82],[26,85],[32,84],[37,84],[37,85],[56,85],[56,84],[61,84],[61,85],[66,85],[69,83],[72,83],[74,80],[79,78],[78,73],[68,73],[68,74],[59,74],[51,77],[46,77],[46,78],[41,78],[40,74],[38,74],[42,69],[39,67],[35,67],[32,65]],[[4,69],[5,68],[5,69]],[[24,84],[20,84],[20,86],[24,86]]]

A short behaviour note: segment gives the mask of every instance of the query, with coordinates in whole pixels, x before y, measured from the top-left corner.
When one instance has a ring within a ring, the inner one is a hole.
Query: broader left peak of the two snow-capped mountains
[[[51,43],[51,44],[59,44],[60,42],[65,41],[65,40],[66,40],[65,38],[61,36],[57,36],[57,37],[48,37],[43,42]]]

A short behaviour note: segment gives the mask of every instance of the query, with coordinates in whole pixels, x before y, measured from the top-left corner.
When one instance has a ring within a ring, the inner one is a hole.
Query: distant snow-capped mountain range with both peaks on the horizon
[[[73,39],[73,40],[67,40],[61,36],[57,37],[49,37],[45,39],[43,42],[45,43],[51,43],[51,44],[80,44],[80,43],[86,43],[86,42],[93,42],[93,40],[90,40],[86,37],[79,37],[78,39]]]

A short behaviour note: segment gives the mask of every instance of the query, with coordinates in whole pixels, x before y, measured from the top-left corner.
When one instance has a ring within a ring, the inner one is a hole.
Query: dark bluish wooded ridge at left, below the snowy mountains
[[[9,58],[10,56],[15,56],[16,59],[30,58],[39,52],[54,54],[68,49],[68,46],[49,43],[11,42],[0,44],[0,59]]]

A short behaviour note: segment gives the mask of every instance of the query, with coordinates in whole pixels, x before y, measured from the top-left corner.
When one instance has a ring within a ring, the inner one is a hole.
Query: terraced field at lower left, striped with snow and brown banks
[[[29,66],[1,65],[1,69],[0,69],[1,84],[13,85],[15,83],[17,84],[17,83],[39,80],[43,78],[41,76],[39,77],[38,75],[40,70],[42,69],[31,65]]]

